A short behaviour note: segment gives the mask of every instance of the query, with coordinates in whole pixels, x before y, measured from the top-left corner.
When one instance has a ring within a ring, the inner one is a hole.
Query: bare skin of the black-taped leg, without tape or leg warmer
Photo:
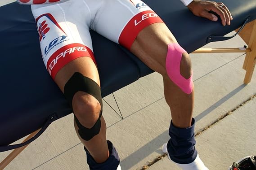
[[[99,85],[99,75],[94,62],[89,57],[80,57],[74,61],[71,61],[61,69],[55,77],[55,83],[64,93],[64,87],[68,80],[74,73],[81,73],[83,76],[91,78]],[[99,118],[99,112],[101,106],[99,101],[94,96],[86,92],[76,92],[72,100],[73,112],[81,123],[81,125],[91,128],[97,122]],[[108,158],[108,145],[106,140],[106,123],[101,118],[101,128],[98,135],[95,135],[92,139],[86,141],[81,138],[78,133],[78,126],[74,120],[74,126],[76,133],[81,142],[88,149],[90,154],[94,157],[98,163],[104,162]]]

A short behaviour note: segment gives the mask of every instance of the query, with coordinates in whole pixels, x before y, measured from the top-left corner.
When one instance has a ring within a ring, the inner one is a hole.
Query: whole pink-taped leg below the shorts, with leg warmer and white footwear
[[[207,170],[194,147],[194,90],[189,54],[177,44],[163,23],[154,23],[140,31],[130,51],[152,70],[162,74],[165,99],[172,118],[168,157],[184,170]]]

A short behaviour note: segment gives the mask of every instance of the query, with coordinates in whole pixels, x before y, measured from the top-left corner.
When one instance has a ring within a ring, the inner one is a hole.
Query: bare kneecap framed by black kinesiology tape
[[[72,107],[76,118],[87,128],[93,127],[99,119],[100,103],[88,93],[77,92],[73,97]]]

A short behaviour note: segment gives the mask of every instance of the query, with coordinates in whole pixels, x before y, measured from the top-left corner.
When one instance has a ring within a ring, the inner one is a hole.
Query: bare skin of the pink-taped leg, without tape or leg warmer
[[[150,36],[152,34],[155,36]],[[166,72],[166,55],[168,44],[171,43],[177,41],[166,25],[155,23],[139,33],[130,51],[152,70],[162,74],[165,99],[171,109],[172,123],[177,127],[187,128],[191,126],[194,92],[183,92]],[[192,75],[191,61],[186,52],[180,61],[180,74],[186,79]]]

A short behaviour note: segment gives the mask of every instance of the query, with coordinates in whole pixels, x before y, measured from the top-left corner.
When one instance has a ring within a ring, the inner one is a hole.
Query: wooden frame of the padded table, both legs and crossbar
[[[256,22],[248,23],[241,33],[239,33],[241,38],[246,42],[248,48],[199,48],[198,50],[192,53],[226,53],[226,52],[245,52],[246,57],[243,63],[243,69],[246,70],[246,75],[244,78],[244,83],[248,84],[252,80],[252,74],[256,65]],[[31,139],[34,135],[37,134],[37,130],[30,135],[23,141],[27,141]],[[23,146],[21,148],[14,149],[12,153],[10,153],[1,163],[0,163],[0,170],[3,170],[15,157],[18,156],[26,147]]]

